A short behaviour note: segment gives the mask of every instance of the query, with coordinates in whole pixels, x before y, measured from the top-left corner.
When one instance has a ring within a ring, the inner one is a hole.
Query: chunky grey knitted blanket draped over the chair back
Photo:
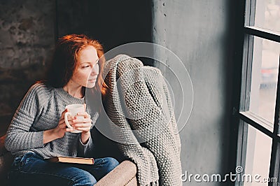
[[[105,110],[118,126],[120,151],[137,164],[139,185],[182,185],[181,142],[167,84],[159,69],[118,55],[104,66]]]

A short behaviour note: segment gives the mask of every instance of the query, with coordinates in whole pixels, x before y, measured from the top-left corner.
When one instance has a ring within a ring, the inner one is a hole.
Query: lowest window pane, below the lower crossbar
[[[252,176],[252,181],[244,177],[244,185],[267,185],[264,179],[269,178],[270,154],[272,138],[248,125],[246,144],[245,174]],[[260,183],[254,180],[255,175],[260,175]],[[262,182],[261,182],[262,181]]]

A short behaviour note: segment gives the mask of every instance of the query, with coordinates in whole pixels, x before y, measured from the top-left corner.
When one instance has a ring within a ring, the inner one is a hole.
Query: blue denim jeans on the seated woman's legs
[[[16,157],[9,174],[11,185],[94,185],[118,166],[112,157],[94,159],[93,165],[45,161],[33,152]]]

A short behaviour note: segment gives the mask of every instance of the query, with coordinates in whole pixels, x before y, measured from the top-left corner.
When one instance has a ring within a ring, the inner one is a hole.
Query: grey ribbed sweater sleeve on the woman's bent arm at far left
[[[10,122],[5,146],[12,153],[43,148],[43,131],[29,131],[41,110],[39,94],[43,94],[43,85],[36,83],[29,88]]]

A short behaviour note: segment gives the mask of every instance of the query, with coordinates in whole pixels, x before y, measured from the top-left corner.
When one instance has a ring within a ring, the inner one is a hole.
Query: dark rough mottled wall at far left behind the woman
[[[55,1],[0,1],[0,134],[29,86],[43,78],[55,43]]]

